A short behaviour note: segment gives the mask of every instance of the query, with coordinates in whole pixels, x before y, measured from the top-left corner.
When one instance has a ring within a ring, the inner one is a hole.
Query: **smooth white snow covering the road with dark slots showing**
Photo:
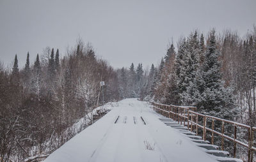
[[[174,128],[159,121],[159,117],[148,103],[124,99],[54,151],[45,162],[216,161]],[[147,149],[147,144],[153,149]]]

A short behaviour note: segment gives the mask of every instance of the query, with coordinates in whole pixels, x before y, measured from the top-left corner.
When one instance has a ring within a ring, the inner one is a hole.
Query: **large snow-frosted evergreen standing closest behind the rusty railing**
[[[196,76],[197,107],[205,114],[224,119],[232,119],[236,115],[234,110],[234,95],[231,88],[225,88],[221,80],[221,64],[218,61],[220,52],[216,47],[215,31],[210,33],[209,44],[205,52],[205,59]],[[230,116],[230,113],[233,116]]]

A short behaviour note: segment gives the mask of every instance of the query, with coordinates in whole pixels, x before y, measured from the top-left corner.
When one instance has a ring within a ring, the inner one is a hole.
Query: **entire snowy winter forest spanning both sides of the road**
[[[47,156],[86,128],[88,114],[103,103],[102,80],[105,103],[139,98],[191,105],[204,114],[256,124],[255,26],[245,36],[192,31],[170,43],[165,55],[157,54],[161,63],[150,69],[142,63],[115,69],[81,40],[61,55],[46,47],[35,61],[28,52],[24,68],[17,55],[12,69],[0,64],[1,161]],[[74,129],[80,119],[85,120]]]

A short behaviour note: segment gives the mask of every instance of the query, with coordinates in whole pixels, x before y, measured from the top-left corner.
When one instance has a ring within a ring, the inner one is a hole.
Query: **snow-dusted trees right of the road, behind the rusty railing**
[[[170,45],[161,64],[152,65],[145,78],[141,99],[192,105],[203,114],[255,126],[256,27],[243,38],[232,31],[216,34],[213,29],[206,36],[194,31],[180,39],[177,50]],[[221,123],[215,126],[221,132]],[[225,130],[234,135],[232,126]],[[247,130],[237,129],[237,138],[246,143]],[[238,147],[238,158],[246,159],[246,149]],[[232,148],[233,143],[225,141],[225,149]]]

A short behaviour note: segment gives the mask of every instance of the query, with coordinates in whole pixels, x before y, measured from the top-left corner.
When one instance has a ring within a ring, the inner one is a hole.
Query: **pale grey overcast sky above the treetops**
[[[0,0],[0,61],[11,64],[17,54],[24,66],[28,51],[35,61],[47,46],[64,55],[80,36],[115,68],[147,67],[159,63],[172,38],[194,29],[244,35],[256,23],[255,8],[255,0]]]

